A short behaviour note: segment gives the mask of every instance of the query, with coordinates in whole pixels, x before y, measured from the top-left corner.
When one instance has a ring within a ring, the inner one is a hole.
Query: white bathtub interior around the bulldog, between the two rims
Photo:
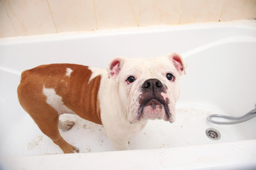
[[[254,25],[255,26],[255,25]],[[192,27],[192,28],[191,28]],[[214,33],[214,35],[213,35]],[[200,35],[200,37],[198,37]],[[207,47],[225,38],[242,38]],[[254,38],[254,39],[253,39]],[[131,149],[153,149],[256,139],[256,118],[238,125],[208,123],[210,114],[244,115],[256,102],[256,30],[250,26],[173,26],[79,35],[43,36],[0,42],[0,157],[60,154],[62,151],[38,129],[18,103],[18,74],[39,64],[70,62],[105,68],[112,57],[157,57],[169,52],[185,55],[188,67],[181,79],[176,122],[149,121],[130,141]],[[185,43],[186,42],[186,43]],[[197,47],[204,50],[192,52]],[[100,60],[100,62],[98,62]],[[80,152],[112,151],[104,128],[75,115],[61,135]],[[210,140],[215,128],[220,140]]]

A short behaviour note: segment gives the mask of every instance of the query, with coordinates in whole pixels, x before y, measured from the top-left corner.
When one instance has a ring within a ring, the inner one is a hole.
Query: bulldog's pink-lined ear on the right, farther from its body
[[[173,53],[171,55],[168,55],[169,60],[174,63],[174,67],[178,70],[179,74],[186,74],[186,62],[182,59],[181,55],[178,55],[177,53]]]

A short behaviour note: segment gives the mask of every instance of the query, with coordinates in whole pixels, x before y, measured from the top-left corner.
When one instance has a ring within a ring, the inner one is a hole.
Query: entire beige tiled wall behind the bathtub
[[[255,17],[256,0],[0,0],[0,38]]]

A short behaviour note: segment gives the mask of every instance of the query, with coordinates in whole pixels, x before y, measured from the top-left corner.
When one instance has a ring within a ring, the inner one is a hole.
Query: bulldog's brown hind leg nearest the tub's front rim
[[[20,85],[18,87],[18,99],[24,110],[31,115],[31,118],[33,118],[38,125],[38,128],[40,128],[45,135],[50,137],[64,153],[79,152],[77,147],[68,144],[68,142],[65,142],[63,137],[60,136],[58,129],[59,114],[55,108],[46,103],[46,96],[43,96],[41,89],[36,89],[35,86],[30,87],[28,85],[26,87],[33,89],[33,91],[29,94],[27,91],[24,91],[23,86]]]

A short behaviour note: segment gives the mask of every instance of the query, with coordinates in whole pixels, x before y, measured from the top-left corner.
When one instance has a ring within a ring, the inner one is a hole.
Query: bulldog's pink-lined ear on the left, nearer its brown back
[[[124,58],[122,57],[117,57],[117,58],[114,58],[109,66],[107,67],[107,77],[110,79],[117,79],[118,77],[118,74],[120,72],[120,70],[122,69],[122,66],[124,64]]]

